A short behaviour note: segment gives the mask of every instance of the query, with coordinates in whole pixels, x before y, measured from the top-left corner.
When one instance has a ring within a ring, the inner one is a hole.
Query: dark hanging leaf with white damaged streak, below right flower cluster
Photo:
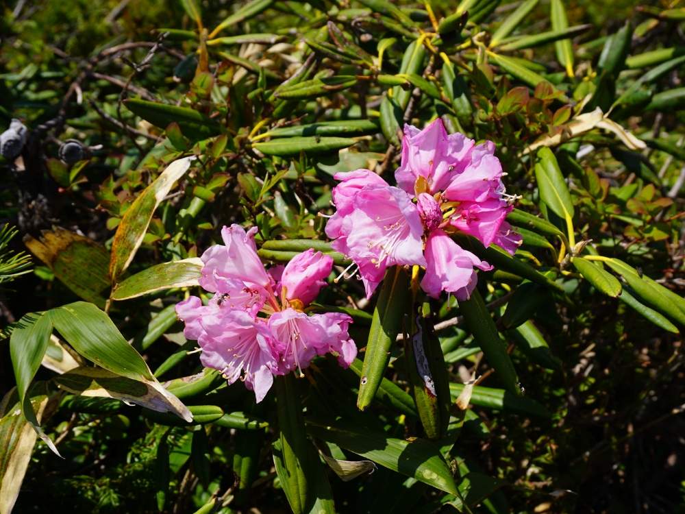
[[[429,304],[424,304],[410,310],[404,354],[423,430],[428,439],[440,439],[449,424],[449,377],[440,341],[429,321],[429,309]]]

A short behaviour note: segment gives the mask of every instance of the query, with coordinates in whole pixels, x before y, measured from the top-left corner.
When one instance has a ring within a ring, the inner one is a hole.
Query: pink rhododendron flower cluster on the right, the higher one
[[[463,232],[510,254],[521,244],[505,221],[513,197],[502,176],[492,142],[475,145],[463,134],[447,134],[439,118],[424,130],[405,125],[397,187],[367,169],[337,173],[336,213],[326,234],[358,267],[367,297],[389,266],[419,265],[428,295],[447,291],[466,299],[476,285],[475,268],[492,267],[450,234]]]

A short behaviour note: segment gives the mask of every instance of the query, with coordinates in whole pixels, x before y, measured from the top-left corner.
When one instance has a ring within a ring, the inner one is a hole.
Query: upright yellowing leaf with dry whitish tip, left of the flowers
[[[152,215],[164,197],[169,194],[173,184],[186,174],[192,159],[193,157],[186,157],[169,164],[162,174],[138,195],[138,198],[124,213],[112,241],[110,277],[113,284],[118,282],[121,273],[131,264],[145,237]]]

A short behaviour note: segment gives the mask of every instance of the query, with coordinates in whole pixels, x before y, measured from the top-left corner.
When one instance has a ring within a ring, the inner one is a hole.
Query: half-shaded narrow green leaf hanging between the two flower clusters
[[[397,339],[402,317],[407,310],[407,291],[408,280],[404,270],[399,266],[388,269],[373,310],[369,340],[366,342],[357,397],[357,406],[361,411],[371,404],[388,366],[390,347]]]

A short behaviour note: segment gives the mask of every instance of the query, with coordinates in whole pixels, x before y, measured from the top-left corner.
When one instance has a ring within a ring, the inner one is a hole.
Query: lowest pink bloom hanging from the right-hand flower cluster
[[[473,267],[489,270],[492,267],[464,250],[443,230],[434,230],[428,236],[425,248],[426,272],[421,288],[437,298],[441,291],[453,293],[458,299],[471,295],[477,283]]]

